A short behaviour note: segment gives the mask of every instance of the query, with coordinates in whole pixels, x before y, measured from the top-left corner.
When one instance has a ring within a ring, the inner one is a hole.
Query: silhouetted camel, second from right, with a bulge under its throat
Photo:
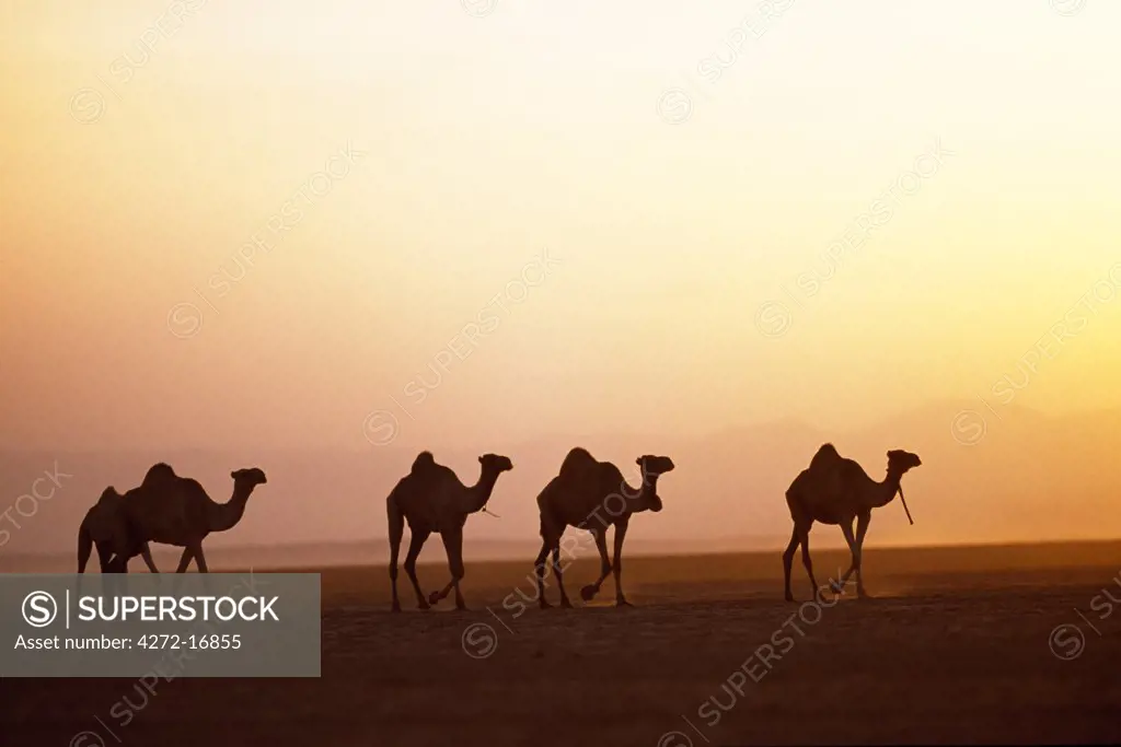
[[[600,551],[600,578],[583,587],[580,596],[591,601],[600,591],[608,573],[614,573],[615,605],[630,607],[622,588],[622,551],[627,527],[632,514],[661,511],[658,497],[658,477],[674,468],[669,457],[641,456],[634,460],[642,469],[642,485],[636,489],[623,479],[622,473],[610,461],[599,461],[585,449],[575,448],[560,465],[560,471],[549,480],[540,495],[537,507],[541,515],[541,551],[534,563],[537,575],[537,600],[541,609],[552,607],[545,598],[545,560],[553,552],[553,573],[560,588],[560,606],[572,607],[564,589],[560,569],[560,536],[569,525],[586,530],[595,539]],[[600,512],[606,516],[600,515]],[[597,523],[593,523],[593,520]],[[608,526],[614,525],[614,562],[608,561]]]

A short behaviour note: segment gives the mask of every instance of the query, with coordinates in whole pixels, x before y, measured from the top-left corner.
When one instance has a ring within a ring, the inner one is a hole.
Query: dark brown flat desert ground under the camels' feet
[[[845,555],[814,560],[824,583]],[[816,605],[797,561],[802,601],[782,601],[778,552],[629,559],[623,609],[610,580],[580,600],[596,570],[573,562],[577,608],[544,611],[521,608],[529,559],[469,563],[460,613],[451,599],[416,610],[402,573],[406,611],[391,615],[383,564],[324,569],[321,679],[177,678],[154,694],[135,680],[7,679],[0,743],[1121,740],[1121,610],[1103,596],[1121,599],[1121,543],[867,550],[874,598],[850,588]],[[446,577],[420,569],[426,591]]]

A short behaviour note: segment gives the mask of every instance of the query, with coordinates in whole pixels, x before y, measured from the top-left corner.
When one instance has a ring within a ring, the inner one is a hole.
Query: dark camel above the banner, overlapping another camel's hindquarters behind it
[[[230,477],[233,478],[233,495],[225,503],[215,503],[196,480],[179,477],[166,464],[154,465],[140,487],[122,496],[130,542],[180,547],[184,550],[176,573],[185,572],[192,559],[200,572],[209,572],[203,540],[212,532],[224,532],[237,525],[253,488],[268,482],[257,467],[238,469],[230,473]]]

